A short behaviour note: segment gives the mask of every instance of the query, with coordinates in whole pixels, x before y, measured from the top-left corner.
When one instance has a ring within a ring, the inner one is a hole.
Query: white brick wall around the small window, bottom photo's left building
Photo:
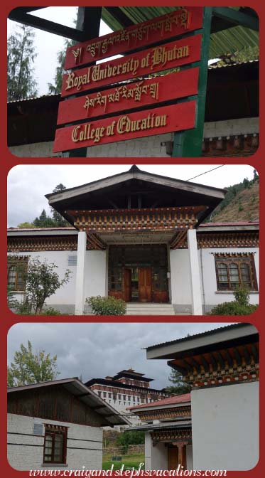
[[[11,467],[19,470],[58,469],[58,466],[43,464],[44,434],[33,435],[34,423],[63,425],[67,432],[66,465],[62,469],[102,469],[102,428],[73,423],[61,423],[55,420],[7,415],[8,460]],[[44,429],[44,427],[43,427]]]

